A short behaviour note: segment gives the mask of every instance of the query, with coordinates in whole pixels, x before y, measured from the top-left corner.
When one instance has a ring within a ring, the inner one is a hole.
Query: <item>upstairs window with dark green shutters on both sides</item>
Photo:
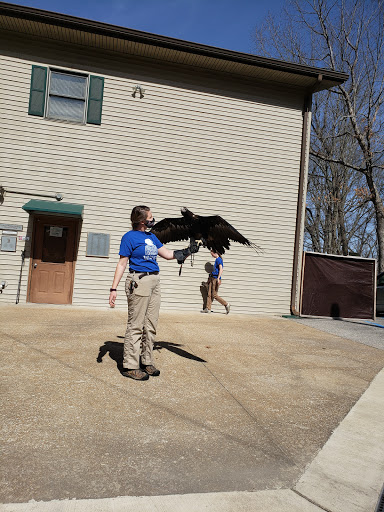
[[[32,66],[30,115],[101,124],[104,78]]]

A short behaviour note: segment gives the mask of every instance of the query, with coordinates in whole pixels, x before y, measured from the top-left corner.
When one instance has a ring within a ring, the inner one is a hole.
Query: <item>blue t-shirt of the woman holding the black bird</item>
[[[157,252],[163,244],[152,233],[132,230],[125,233],[120,243],[120,256],[128,256],[129,270],[158,272]]]

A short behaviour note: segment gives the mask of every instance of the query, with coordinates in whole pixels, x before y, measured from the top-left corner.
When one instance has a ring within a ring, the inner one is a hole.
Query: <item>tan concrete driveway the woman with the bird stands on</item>
[[[0,320],[3,503],[291,488],[384,364],[289,319],[162,313],[161,375],[135,382],[124,313]]]

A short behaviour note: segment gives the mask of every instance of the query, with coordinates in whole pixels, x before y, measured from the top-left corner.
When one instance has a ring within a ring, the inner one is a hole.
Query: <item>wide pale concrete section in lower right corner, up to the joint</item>
[[[332,512],[375,510],[384,481],[384,370],[352,407],[295,490]]]

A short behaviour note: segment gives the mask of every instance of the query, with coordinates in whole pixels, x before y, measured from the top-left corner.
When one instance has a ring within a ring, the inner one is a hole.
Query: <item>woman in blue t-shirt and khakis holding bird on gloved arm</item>
[[[132,230],[125,233],[120,244],[120,260],[109,295],[109,305],[115,307],[117,287],[129,260],[129,274],[125,282],[128,300],[128,322],[124,339],[124,377],[148,380],[160,375],[153,365],[153,342],[160,309],[160,275],[157,255],[166,260],[177,259],[179,264],[191,254],[191,249],[170,251],[147,231],[155,224],[148,206],[135,206],[131,213]],[[198,246],[192,248],[198,251]]]

